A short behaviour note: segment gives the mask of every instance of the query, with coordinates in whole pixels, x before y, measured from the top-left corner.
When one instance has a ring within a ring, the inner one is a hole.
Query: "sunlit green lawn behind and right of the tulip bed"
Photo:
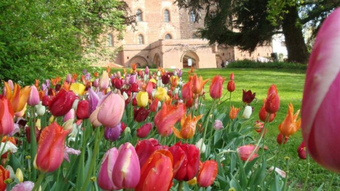
[[[223,94],[227,92],[226,85],[229,81],[230,73],[235,74],[235,84],[236,90],[232,93],[232,103],[239,107],[242,101],[242,89],[252,90],[256,92],[257,100],[251,103],[254,107],[254,112],[252,114],[253,121],[258,119],[258,112],[262,106],[262,99],[266,98],[267,89],[271,84],[275,84],[278,89],[280,96],[280,109],[277,112],[275,120],[270,124],[269,130],[266,134],[267,146],[269,148],[275,148],[276,135],[278,134],[277,126],[284,119],[289,102],[294,105],[295,111],[301,107],[302,91],[304,85],[305,71],[304,70],[288,70],[288,69],[199,69],[196,73],[200,76],[206,78],[213,78],[215,75],[219,74],[227,78],[224,83]],[[188,70],[184,70],[183,80],[188,81]],[[206,104],[209,105],[212,99],[209,96],[209,85],[210,82],[205,86],[206,90]],[[227,98],[228,96],[226,96]],[[226,99],[225,98],[225,99]],[[226,103],[226,107],[229,106],[229,102]],[[254,135],[256,135],[254,133]],[[290,168],[289,176],[290,181],[296,181],[296,188],[302,188],[303,182],[306,177],[307,170],[307,160],[301,160],[297,156],[296,149],[301,143],[301,131],[299,130],[296,134],[292,135],[288,142],[283,147],[284,156],[290,158]],[[331,178],[332,173],[321,168],[318,164],[311,161],[310,166],[310,179],[308,181],[309,190],[316,190],[323,182],[325,185],[323,188],[328,188],[328,183]],[[338,184],[340,176],[336,175],[333,181],[332,190],[339,190],[340,186]]]

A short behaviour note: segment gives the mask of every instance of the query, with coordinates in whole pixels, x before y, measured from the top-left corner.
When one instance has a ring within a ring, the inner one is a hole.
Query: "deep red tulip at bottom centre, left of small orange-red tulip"
[[[179,181],[193,179],[199,170],[200,150],[193,144],[181,142],[169,147],[168,150],[174,156],[175,178]]]

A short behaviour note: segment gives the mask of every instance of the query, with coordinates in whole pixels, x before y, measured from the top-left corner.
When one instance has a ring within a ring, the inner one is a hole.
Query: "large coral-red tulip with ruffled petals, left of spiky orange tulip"
[[[173,133],[173,126],[182,119],[186,113],[186,106],[166,105],[164,102],[161,109],[154,116],[154,125],[157,127],[160,136],[169,136]]]

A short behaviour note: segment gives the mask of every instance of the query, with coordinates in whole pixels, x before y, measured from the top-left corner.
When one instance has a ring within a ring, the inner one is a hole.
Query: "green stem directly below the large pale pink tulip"
[[[100,145],[100,141],[101,141],[100,137],[102,137],[103,134],[104,134],[104,128],[97,127],[96,128],[95,142],[94,142],[94,151],[93,151],[93,155],[92,155],[92,158],[91,158],[91,164],[90,164],[90,168],[89,168],[89,171],[87,173],[87,176],[85,178],[83,187],[81,189],[82,191],[86,190],[87,185],[90,181],[92,170],[93,170],[94,164],[96,162],[95,160],[96,160],[96,157],[97,157],[97,154],[98,154],[98,151],[99,151],[99,145]]]

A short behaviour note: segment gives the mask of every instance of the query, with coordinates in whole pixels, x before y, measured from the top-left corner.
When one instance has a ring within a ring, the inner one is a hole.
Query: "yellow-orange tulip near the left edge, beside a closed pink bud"
[[[12,108],[15,113],[21,111],[24,109],[27,100],[31,93],[31,87],[26,86],[24,89],[21,89],[21,87],[18,84],[14,85],[14,92],[13,96],[11,98],[8,98],[12,103]],[[7,90],[6,90],[7,94]]]

